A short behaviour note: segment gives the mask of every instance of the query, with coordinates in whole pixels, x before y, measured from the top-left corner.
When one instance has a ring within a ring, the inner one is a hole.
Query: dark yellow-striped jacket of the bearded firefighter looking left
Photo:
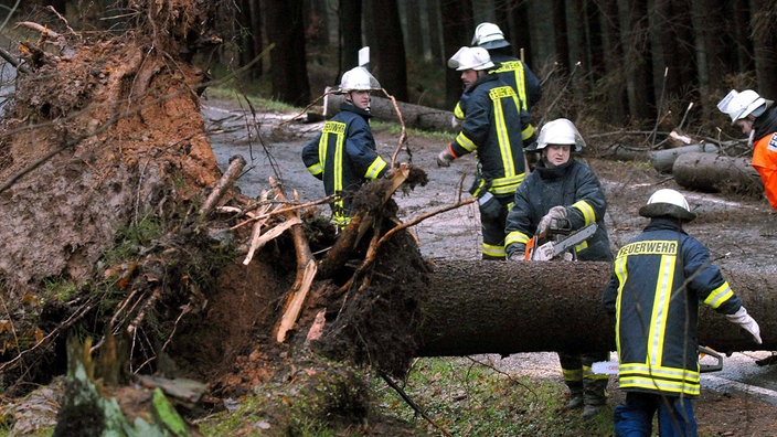
[[[472,194],[488,190],[498,196],[512,195],[525,175],[523,140],[534,138],[529,113],[520,109],[515,90],[496,74],[480,76],[459,104],[467,116],[449,151],[454,158],[477,151]]]

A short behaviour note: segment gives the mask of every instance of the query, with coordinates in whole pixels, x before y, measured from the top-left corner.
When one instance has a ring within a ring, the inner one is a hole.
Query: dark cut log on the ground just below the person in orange
[[[752,195],[764,192],[760,177],[748,158],[683,153],[674,161],[672,173],[678,184],[690,190]]]

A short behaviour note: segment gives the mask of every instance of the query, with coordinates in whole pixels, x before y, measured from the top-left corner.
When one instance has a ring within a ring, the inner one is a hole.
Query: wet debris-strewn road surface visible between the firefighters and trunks
[[[248,169],[237,181],[243,194],[256,196],[267,186],[270,175],[278,177],[287,192],[295,190],[300,201],[323,196],[323,188],[312,178],[300,159],[302,146],[316,136],[320,122],[279,122],[291,117],[289,113],[265,113],[256,116],[259,127],[247,136],[245,108],[234,102],[205,98],[203,116],[211,131],[216,159],[224,168],[228,158],[242,154]],[[583,127],[585,136],[585,128]],[[398,145],[398,131],[387,124],[373,124],[379,152],[388,159]],[[256,134],[258,132],[258,136]],[[251,137],[251,138],[249,138]],[[405,195],[395,195],[398,216],[408,221],[421,214],[453,204],[459,196],[459,186],[471,181],[475,160],[465,157],[450,168],[436,166],[436,154],[451,138],[443,135],[408,132],[407,141],[397,161],[423,168],[429,182]],[[649,195],[660,188],[672,188],[685,194],[699,218],[686,231],[707,245],[712,257],[724,271],[748,270],[773,275],[774,247],[777,244],[775,213],[764,199],[733,193],[700,193],[678,186],[669,174],[660,174],[649,162],[614,161],[597,157],[597,150],[609,145],[588,141],[583,159],[597,173],[608,201],[606,225],[613,249],[636,236],[647,220],[637,214]],[[465,194],[465,196],[468,194]],[[480,226],[477,207],[465,205],[427,218],[413,227],[422,254],[429,259],[478,259],[480,257]],[[519,354],[497,360],[498,365],[514,374],[561,382],[554,354]],[[756,364],[753,362],[753,366]],[[610,379],[609,406],[622,401],[617,379]],[[777,406],[759,402],[741,393],[703,388],[695,403],[700,430],[720,436],[777,436]]]

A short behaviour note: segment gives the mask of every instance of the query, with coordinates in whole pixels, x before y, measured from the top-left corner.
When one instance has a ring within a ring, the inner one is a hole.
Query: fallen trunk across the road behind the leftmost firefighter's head
[[[340,111],[340,104],[345,99],[342,95],[331,94],[327,96],[327,116],[332,116]],[[424,130],[444,130],[454,132],[454,126],[450,122],[454,113],[430,108],[428,106],[413,105],[404,102],[397,102],[397,107],[402,113],[402,118],[405,120],[405,127],[424,129]],[[397,121],[396,111],[388,98],[380,97],[373,93],[370,104],[370,111],[375,119],[382,121]]]

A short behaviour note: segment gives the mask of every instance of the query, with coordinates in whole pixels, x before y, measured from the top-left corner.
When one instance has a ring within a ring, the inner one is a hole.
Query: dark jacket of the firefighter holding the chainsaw
[[[568,162],[546,168],[539,161],[533,172],[515,191],[515,203],[508,214],[507,257],[523,256],[526,243],[534,236],[540,220],[553,206],[566,207],[567,218],[573,230],[596,223],[596,233],[575,247],[579,260],[611,260],[605,210],[605,193],[588,166],[570,159]]]

